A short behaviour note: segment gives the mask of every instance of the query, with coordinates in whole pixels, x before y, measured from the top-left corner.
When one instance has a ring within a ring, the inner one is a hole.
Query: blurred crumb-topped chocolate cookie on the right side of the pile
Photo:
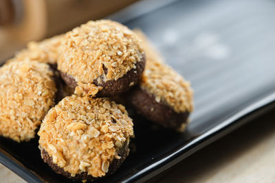
[[[193,110],[190,83],[165,64],[143,34],[137,34],[143,40],[147,60],[140,86],[129,91],[127,101],[150,121],[183,131]]]

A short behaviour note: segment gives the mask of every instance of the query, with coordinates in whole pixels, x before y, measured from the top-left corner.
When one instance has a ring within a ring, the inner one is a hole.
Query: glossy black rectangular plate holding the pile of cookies
[[[172,1],[157,10],[152,2],[158,1],[143,1],[116,17],[140,27],[168,64],[190,80],[195,112],[182,134],[133,117],[129,158],[99,182],[147,180],[274,108],[275,1]],[[43,163],[37,141],[0,138],[0,162],[28,182],[69,182]]]

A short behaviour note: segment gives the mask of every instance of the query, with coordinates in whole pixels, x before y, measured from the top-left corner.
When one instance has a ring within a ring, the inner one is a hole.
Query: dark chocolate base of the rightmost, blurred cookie
[[[127,103],[138,114],[163,127],[180,130],[183,123],[187,123],[189,112],[175,112],[166,103],[155,101],[155,96],[143,90],[139,86],[133,88],[126,96]]]

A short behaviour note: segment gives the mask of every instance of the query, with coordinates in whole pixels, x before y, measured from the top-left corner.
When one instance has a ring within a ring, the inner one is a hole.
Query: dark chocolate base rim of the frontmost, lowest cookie
[[[128,154],[129,154],[129,145],[125,144],[118,151],[118,156],[120,156],[121,158],[120,159],[114,159],[109,164],[109,171],[106,173],[105,176],[113,174],[115,172],[115,170],[117,170],[120,167],[122,162],[124,162],[124,160],[128,156]],[[49,167],[52,168],[52,170],[54,170],[58,174],[61,174],[61,175],[65,176],[66,178],[69,178],[69,179],[72,179],[72,180],[78,180],[78,181],[82,181],[82,180],[94,181],[94,180],[100,179],[100,178],[94,178],[92,175],[88,175],[87,172],[76,174],[76,176],[72,177],[71,173],[69,173],[68,171],[65,171],[61,167],[58,167],[57,164],[54,164],[54,162],[52,162],[52,157],[43,148],[41,148],[41,157],[42,157],[43,161],[45,163],[47,163],[49,165]]]

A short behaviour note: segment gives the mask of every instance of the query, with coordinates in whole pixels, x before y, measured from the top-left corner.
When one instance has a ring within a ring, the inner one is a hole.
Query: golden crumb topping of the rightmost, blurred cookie
[[[191,112],[193,110],[192,88],[164,60],[140,30],[134,32],[142,39],[146,53],[146,66],[140,86],[148,93],[155,95],[157,102],[164,102],[175,112]]]

